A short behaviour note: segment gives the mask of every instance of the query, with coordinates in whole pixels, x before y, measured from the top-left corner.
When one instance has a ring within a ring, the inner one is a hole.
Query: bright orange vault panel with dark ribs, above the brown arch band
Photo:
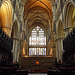
[[[34,1],[30,1],[28,0],[26,2],[26,9],[29,10],[30,8],[34,7],[34,6],[43,6],[45,9],[47,9],[49,12],[52,12],[51,10],[51,2],[47,1],[47,0],[34,0]]]

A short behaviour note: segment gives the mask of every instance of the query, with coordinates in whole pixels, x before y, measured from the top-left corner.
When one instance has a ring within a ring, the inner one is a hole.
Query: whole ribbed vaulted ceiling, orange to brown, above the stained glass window
[[[24,7],[24,21],[30,28],[33,25],[49,27],[49,20],[52,17],[51,2],[48,0],[28,0]]]

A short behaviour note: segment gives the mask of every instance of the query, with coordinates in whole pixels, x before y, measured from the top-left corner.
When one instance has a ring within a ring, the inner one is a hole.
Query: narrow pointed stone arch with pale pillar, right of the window
[[[62,54],[63,54],[63,38],[64,38],[64,31],[63,31],[63,23],[59,20],[57,24],[57,39],[56,39],[56,57],[57,61],[62,62]]]

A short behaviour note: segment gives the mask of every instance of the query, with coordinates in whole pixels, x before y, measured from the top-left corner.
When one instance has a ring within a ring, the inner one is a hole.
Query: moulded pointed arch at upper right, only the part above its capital
[[[63,20],[64,20],[64,29],[73,27],[72,26],[72,16],[75,15],[73,11],[75,10],[75,3],[70,0],[67,1],[64,5],[64,10],[63,10]]]

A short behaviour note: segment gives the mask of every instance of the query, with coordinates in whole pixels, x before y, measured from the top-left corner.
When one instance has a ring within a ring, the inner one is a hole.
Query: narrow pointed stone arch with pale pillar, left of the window
[[[19,61],[19,51],[18,51],[18,24],[17,21],[14,22],[13,28],[12,28],[12,34],[11,37],[13,39],[13,62]]]

